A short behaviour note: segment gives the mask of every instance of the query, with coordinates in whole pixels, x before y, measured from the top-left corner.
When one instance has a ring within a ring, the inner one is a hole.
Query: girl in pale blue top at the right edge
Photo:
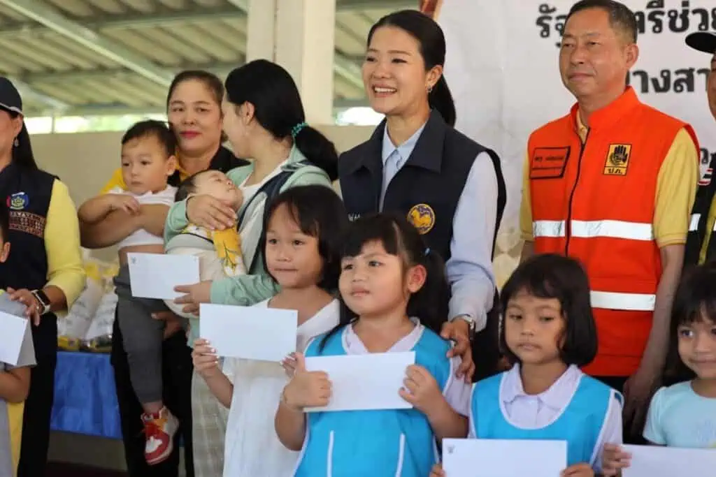
[[[675,384],[654,394],[644,438],[656,446],[716,451],[716,262],[684,275],[671,327],[667,378]],[[604,475],[618,475],[631,458],[619,446],[608,446]]]

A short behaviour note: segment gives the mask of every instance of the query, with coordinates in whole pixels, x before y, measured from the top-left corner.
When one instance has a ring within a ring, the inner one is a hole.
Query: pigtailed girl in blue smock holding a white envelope
[[[306,413],[329,404],[331,376],[306,371],[297,354],[276,432],[284,446],[301,450],[295,476],[426,477],[436,439],[468,432],[470,385],[455,378],[460,358],[448,358],[450,343],[438,334],[448,298],[442,259],[405,217],[376,215],[352,223],[341,267],[341,323],[313,340],[306,358],[412,351],[415,365],[395,395],[413,407]]]

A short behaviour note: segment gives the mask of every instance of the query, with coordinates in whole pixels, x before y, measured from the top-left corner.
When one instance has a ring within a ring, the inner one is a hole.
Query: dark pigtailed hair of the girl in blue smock
[[[425,283],[420,290],[410,295],[406,313],[408,316],[420,318],[422,325],[439,334],[440,327],[447,318],[444,310],[448,309],[450,296],[448,280],[445,279],[445,262],[440,254],[425,247],[417,229],[405,217],[382,213],[361,217],[352,222],[344,235],[341,260],[360,255],[364,245],[374,241],[381,242],[390,255],[400,257],[404,272],[416,265],[425,267]],[[323,350],[332,335],[357,318],[341,298],[340,322],[321,340],[319,351]]]

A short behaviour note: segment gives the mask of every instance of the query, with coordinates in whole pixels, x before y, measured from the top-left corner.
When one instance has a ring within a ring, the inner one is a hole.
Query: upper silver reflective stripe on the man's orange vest
[[[571,236],[578,238],[612,237],[625,240],[654,240],[652,224],[624,220],[572,220]],[[565,237],[566,221],[536,220],[532,233],[537,237]]]

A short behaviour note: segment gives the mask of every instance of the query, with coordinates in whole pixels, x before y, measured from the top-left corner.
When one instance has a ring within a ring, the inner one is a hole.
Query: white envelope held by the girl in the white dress
[[[296,350],[299,313],[231,305],[199,305],[199,336],[219,356],[279,363]]]

